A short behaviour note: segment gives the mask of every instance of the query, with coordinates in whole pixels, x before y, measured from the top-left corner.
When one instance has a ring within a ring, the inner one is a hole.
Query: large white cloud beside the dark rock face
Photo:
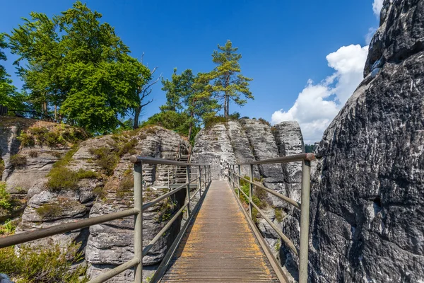
[[[328,54],[326,59],[334,74],[319,83],[309,80],[293,107],[273,112],[271,122],[297,120],[305,143],[321,140],[326,127],[362,81],[367,53],[367,46],[349,45]]]

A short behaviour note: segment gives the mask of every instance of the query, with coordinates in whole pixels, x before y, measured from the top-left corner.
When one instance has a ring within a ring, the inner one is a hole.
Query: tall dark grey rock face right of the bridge
[[[384,1],[365,79],[317,149],[311,282],[424,282],[424,1]]]

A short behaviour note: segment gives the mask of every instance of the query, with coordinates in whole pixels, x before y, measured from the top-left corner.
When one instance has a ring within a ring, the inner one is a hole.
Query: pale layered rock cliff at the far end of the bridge
[[[276,158],[305,152],[302,132],[298,122],[281,122],[271,127],[264,120],[230,120],[202,129],[196,136],[193,149],[193,161],[211,163],[212,177],[224,179],[228,172],[228,163],[246,163],[249,161]],[[249,166],[240,168],[242,175],[249,175]],[[254,166],[254,178],[258,178],[266,187],[300,201],[301,163],[265,164]],[[262,192],[262,193],[261,193]],[[262,209],[274,224],[286,233],[290,232],[294,240],[298,238],[299,215],[288,204],[277,197],[257,190],[262,200],[266,200]],[[276,215],[277,214],[277,215]],[[281,265],[290,258],[285,252],[279,253],[281,246],[278,235],[261,217],[257,225],[271,250],[280,258]],[[286,229],[290,227],[290,229]]]

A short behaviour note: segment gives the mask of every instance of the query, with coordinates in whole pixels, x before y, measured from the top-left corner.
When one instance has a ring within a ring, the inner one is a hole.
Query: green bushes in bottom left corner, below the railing
[[[88,282],[85,276],[86,267],[77,267],[69,271],[73,262],[82,259],[78,246],[73,244],[67,252],[61,252],[59,245],[33,248],[20,246],[19,254],[13,246],[0,249],[0,273],[13,278],[16,283],[83,283]],[[72,261],[69,258],[73,258]],[[82,279],[79,277],[83,276]]]

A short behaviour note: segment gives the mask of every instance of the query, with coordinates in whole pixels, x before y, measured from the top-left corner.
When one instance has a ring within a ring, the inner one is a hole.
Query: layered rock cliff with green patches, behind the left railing
[[[0,135],[5,165],[3,180],[7,191],[18,196],[26,206],[16,233],[132,207],[133,175],[128,157],[139,154],[174,159],[179,149],[189,146],[175,132],[155,126],[81,141],[86,137],[76,137],[73,128],[63,125],[16,118],[12,121],[6,117],[1,117],[0,122],[3,126]],[[66,134],[71,131],[75,139]],[[150,186],[167,183],[168,170],[172,168],[143,166],[144,201],[163,193]],[[184,192],[179,193],[172,200],[160,202],[144,213],[145,245],[166,224],[167,215],[184,203],[184,197]],[[134,217],[128,217],[31,244],[46,247],[57,244],[66,248],[72,242],[80,243],[88,275],[98,275],[133,258],[133,222]],[[162,260],[178,231],[177,221],[143,258],[146,270],[151,270],[149,266]],[[144,275],[148,274],[144,272]],[[127,270],[110,282],[126,282],[131,276],[132,270]]]

